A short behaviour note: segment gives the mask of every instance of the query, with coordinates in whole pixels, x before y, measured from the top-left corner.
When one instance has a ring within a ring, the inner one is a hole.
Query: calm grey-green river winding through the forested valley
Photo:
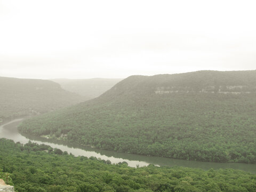
[[[135,154],[125,154],[117,153],[115,151],[100,150],[90,147],[84,147],[75,145],[73,143],[56,141],[41,137],[31,137],[21,135],[17,127],[22,122],[23,119],[15,119],[8,123],[0,126],[0,138],[11,139],[15,142],[27,143],[29,140],[32,142],[37,142],[38,144],[44,143],[52,148],[59,148],[62,151],[67,151],[75,156],[83,155],[85,157],[97,157],[101,159],[109,159],[111,163],[127,162],[129,166],[136,167],[147,166],[149,164],[154,164],[157,166],[183,166],[183,167],[194,167],[203,170],[213,169],[238,169],[256,174],[256,164],[245,164],[245,163],[214,163],[214,162],[197,162],[197,161],[187,161],[181,159],[172,159],[165,157],[149,157],[144,155]],[[29,138],[29,139],[28,139]]]

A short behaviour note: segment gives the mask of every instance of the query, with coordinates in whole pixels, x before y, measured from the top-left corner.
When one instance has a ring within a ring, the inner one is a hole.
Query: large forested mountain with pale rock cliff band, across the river
[[[256,163],[255,104],[255,70],[131,76],[19,129],[125,153]]]

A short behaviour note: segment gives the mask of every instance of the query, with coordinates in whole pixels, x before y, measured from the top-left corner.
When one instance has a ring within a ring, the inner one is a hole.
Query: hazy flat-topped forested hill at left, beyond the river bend
[[[48,80],[0,77],[0,120],[67,107],[84,98]]]

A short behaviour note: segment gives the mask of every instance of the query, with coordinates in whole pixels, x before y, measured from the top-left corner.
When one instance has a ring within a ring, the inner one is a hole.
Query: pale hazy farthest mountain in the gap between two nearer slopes
[[[83,95],[87,100],[97,98],[109,90],[120,78],[91,78],[91,79],[51,79],[61,85],[62,89]]]

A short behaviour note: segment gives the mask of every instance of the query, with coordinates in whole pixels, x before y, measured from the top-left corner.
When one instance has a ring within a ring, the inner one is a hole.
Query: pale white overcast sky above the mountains
[[[256,1],[0,0],[0,76],[256,69]]]

